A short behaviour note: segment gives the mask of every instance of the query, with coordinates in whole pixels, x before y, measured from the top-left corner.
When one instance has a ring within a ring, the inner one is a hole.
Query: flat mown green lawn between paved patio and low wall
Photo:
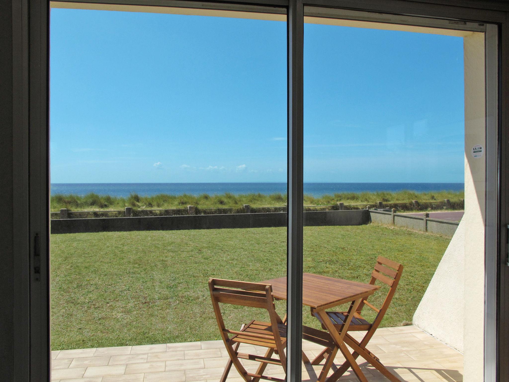
[[[304,227],[304,270],[367,282],[378,255],[404,264],[382,326],[407,324],[449,240],[376,225]],[[286,274],[286,228],[61,234],[50,248],[53,350],[219,339],[209,277]],[[225,317],[232,328],[266,318],[239,307]]]

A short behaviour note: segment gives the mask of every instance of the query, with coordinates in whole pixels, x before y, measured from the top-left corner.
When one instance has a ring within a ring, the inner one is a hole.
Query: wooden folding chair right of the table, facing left
[[[385,257],[379,256],[377,259],[377,263],[375,264],[375,269],[371,274],[370,284],[375,285],[376,281],[380,281],[389,286],[389,292],[385,297],[385,301],[380,309],[376,308],[372,304],[370,304],[367,299],[363,300],[355,312],[353,313],[353,317],[350,322],[350,326],[348,327],[348,332],[354,331],[367,331],[367,333],[362,338],[362,341],[357,341],[355,338],[350,336],[348,333],[345,335],[344,341],[347,345],[349,345],[353,350],[353,357],[357,359],[359,355],[364,358],[366,361],[370,362],[377,370],[379,370],[385,377],[393,382],[400,382],[400,379],[391,374],[385,366],[380,363],[378,357],[375,356],[371,351],[366,349],[367,343],[375,334],[380,322],[382,321],[385,312],[389,308],[390,302],[392,301],[392,297],[398,288],[398,284],[401,279],[401,274],[403,272],[403,265],[398,264],[395,261],[386,259]],[[364,306],[367,306],[377,312],[377,316],[373,322],[369,322],[364,317],[362,317],[362,309]],[[322,322],[321,318],[315,314],[315,316]],[[334,326],[337,329],[341,329],[344,322],[348,319],[348,312],[327,312],[327,316],[333,322]],[[325,325],[322,322],[322,328],[325,329]],[[330,353],[330,348],[325,348],[312,362],[312,365],[318,365],[322,360],[326,357],[328,353]],[[340,378],[350,367],[348,361],[343,363],[343,365],[338,368],[328,380],[337,380]]]

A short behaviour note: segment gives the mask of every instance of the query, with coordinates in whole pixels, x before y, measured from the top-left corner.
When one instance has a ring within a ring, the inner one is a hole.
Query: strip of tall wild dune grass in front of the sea
[[[375,192],[375,193],[341,193],[324,195],[315,198],[311,195],[304,196],[304,205],[335,205],[343,202],[349,204],[376,203],[411,203],[413,200],[422,201],[443,201],[449,199],[451,202],[460,202],[464,199],[464,192],[440,191],[433,193],[415,193],[408,190],[401,192]],[[220,195],[202,194],[194,195],[167,195],[159,194],[153,196],[140,196],[131,194],[127,198],[114,197],[109,195],[97,195],[94,193],[85,196],[61,195],[51,196],[51,211],[59,211],[67,208],[70,211],[79,210],[101,210],[101,209],[123,209],[133,207],[137,209],[150,208],[187,208],[188,205],[199,208],[242,208],[244,204],[251,207],[276,207],[287,204],[285,194],[244,194],[234,195],[224,193]],[[374,206],[374,205],[373,205]]]

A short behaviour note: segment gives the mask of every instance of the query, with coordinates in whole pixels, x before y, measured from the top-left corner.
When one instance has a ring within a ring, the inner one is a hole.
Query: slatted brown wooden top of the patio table
[[[287,298],[287,278],[262,281],[272,284],[275,298]],[[356,281],[335,279],[333,277],[303,274],[302,304],[314,309],[327,309],[349,303],[360,297],[367,297],[380,288],[378,285],[358,283]]]

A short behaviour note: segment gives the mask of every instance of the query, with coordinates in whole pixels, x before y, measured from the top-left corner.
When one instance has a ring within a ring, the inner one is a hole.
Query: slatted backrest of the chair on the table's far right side
[[[359,307],[357,308],[357,312],[360,312],[364,306],[368,306],[375,312],[377,312],[377,317],[375,318],[375,321],[373,321],[372,324],[372,326],[374,326],[375,329],[378,328],[380,321],[382,321],[385,312],[389,308],[390,302],[392,301],[392,297],[394,296],[394,293],[398,288],[398,284],[400,282],[402,273],[403,265],[395,261],[386,259],[385,257],[378,256],[377,262],[375,264],[375,269],[373,269],[373,272],[371,273],[370,284],[375,285],[376,281],[378,280],[388,285],[389,292],[387,293],[385,301],[383,302],[383,305],[380,309],[374,307],[366,300],[359,304]]]

